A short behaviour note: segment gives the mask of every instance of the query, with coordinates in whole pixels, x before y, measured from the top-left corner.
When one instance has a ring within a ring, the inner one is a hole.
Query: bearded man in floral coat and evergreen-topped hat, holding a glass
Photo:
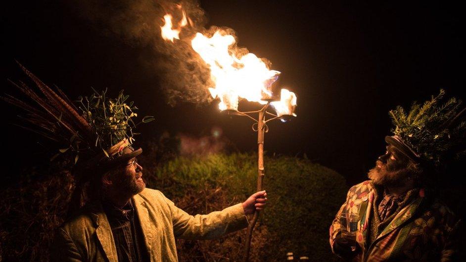
[[[409,114],[401,107],[390,111],[395,128],[385,137],[385,154],[369,171],[370,180],[349,189],[330,226],[337,256],[361,262],[458,260],[461,223],[429,181],[442,174],[448,157],[465,149],[465,110],[458,113],[458,105],[448,103],[437,107],[442,95],[423,107],[415,103]],[[343,213],[358,218],[355,239]]]

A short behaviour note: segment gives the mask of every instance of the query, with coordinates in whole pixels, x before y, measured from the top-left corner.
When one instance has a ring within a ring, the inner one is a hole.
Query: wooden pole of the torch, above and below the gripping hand
[[[259,120],[257,122],[257,167],[258,167],[258,176],[257,176],[257,191],[262,191],[262,183],[264,181],[264,134],[265,134],[265,112],[267,109],[267,105],[259,111]],[[252,231],[254,230],[254,226],[256,225],[257,219],[259,218],[259,211],[256,210],[254,215],[249,221],[249,225],[247,226],[247,235],[246,235],[246,247],[244,249],[244,262],[249,261],[249,250],[251,249],[251,237]]]

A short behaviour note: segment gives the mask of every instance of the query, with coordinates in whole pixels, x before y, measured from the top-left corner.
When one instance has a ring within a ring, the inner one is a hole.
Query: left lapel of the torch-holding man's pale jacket
[[[118,262],[118,255],[116,252],[112,229],[110,228],[107,216],[105,216],[100,203],[93,208],[91,217],[95,226],[95,234],[97,235],[97,239],[108,258],[108,261]]]

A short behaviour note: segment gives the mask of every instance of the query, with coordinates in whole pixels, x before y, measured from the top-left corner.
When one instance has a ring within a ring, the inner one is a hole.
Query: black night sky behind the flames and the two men
[[[208,26],[233,28],[239,45],[271,60],[273,69],[282,72],[281,84],[298,96],[298,117],[271,124],[265,149],[306,153],[347,177],[349,184],[365,179],[384,152],[390,109],[426,99],[440,87],[465,98],[466,30],[460,6],[445,1],[368,2],[200,2]],[[163,131],[203,135],[216,126],[239,150],[256,149],[250,123],[224,118],[216,103],[168,106],[160,76],[141,62],[146,47],[83,20],[67,1],[15,1],[4,11],[2,93],[16,93],[7,78],[24,79],[17,59],[71,98],[90,93],[91,86],[125,89],[140,115],[156,117],[140,139]],[[9,124],[15,112],[4,104],[0,108],[8,173],[16,175],[28,159],[47,162],[36,138]]]

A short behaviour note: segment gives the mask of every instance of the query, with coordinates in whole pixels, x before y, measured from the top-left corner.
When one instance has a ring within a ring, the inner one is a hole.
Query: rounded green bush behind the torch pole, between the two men
[[[328,227],[345,199],[344,178],[319,164],[294,157],[266,156],[264,163],[264,187],[269,205],[261,214],[259,226],[253,234],[253,241],[254,238],[260,239],[262,246],[258,247],[259,243],[253,242],[252,252],[258,254],[252,254],[252,257],[258,261],[280,261],[285,260],[287,252],[293,252],[295,256],[312,256],[316,261],[334,260],[328,244]],[[154,172],[155,176],[149,177],[149,187],[156,184],[156,188],[160,188],[175,204],[187,203],[192,207],[195,199],[203,198],[203,192],[214,192],[217,188],[225,195],[218,198],[225,199],[221,205],[225,208],[244,201],[255,192],[257,155],[235,153],[205,158],[179,157]],[[215,209],[205,209],[200,205],[190,211],[205,214]],[[213,250],[212,246],[217,244],[214,241],[209,243],[211,248],[208,250],[233,261],[240,260],[243,241],[238,242],[237,239],[244,235],[245,230],[220,240],[222,244],[219,246],[231,244],[236,249],[219,247]],[[184,246],[179,251],[180,257],[191,256],[192,260],[193,249],[203,250],[202,244]]]

